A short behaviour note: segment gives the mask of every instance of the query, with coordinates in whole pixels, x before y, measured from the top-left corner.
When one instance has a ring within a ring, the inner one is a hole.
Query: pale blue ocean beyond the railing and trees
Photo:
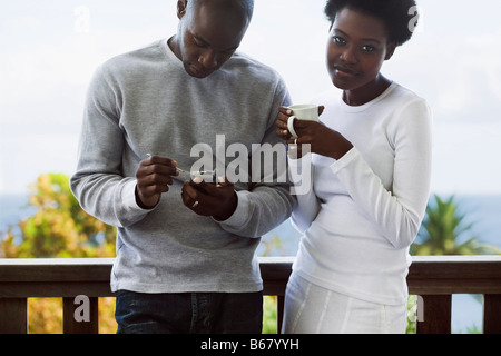
[[[441,196],[442,199],[449,196]],[[433,202],[433,196],[431,202]],[[459,212],[464,215],[464,224],[472,224],[471,234],[480,243],[501,248],[501,195],[458,195],[454,198]],[[32,216],[36,209],[28,205],[26,195],[0,195],[0,239],[3,238],[9,226],[20,239],[17,224]],[[263,244],[257,255],[263,256],[294,256],[301,235],[287,220],[263,237]],[[468,329],[482,328],[482,304],[479,296],[453,295],[452,298],[452,332],[468,333]]]

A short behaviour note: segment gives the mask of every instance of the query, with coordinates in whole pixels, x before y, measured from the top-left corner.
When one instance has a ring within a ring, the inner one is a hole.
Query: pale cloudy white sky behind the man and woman
[[[434,112],[434,194],[501,194],[498,0],[420,0],[409,43],[383,66]],[[240,50],[275,68],[293,101],[333,90],[324,0],[255,0]],[[75,171],[89,80],[108,58],[168,38],[175,0],[9,1],[0,12],[0,194]]]

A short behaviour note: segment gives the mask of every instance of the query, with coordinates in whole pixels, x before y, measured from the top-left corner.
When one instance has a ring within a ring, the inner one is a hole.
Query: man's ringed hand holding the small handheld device
[[[202,216],[212,216],[218,221],[228,219],[236,210],[238,198],[234,185],[225,178],[218,182],[206,182],[199,177],[185,182],[181,198],[184,205]]]

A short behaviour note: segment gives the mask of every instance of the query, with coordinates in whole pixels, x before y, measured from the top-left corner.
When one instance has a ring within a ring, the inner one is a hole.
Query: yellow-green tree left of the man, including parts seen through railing
[[[115,257],[116,228],[85,212],[70,191],[69,177],[43,174],[30,186],[29,204],[37,208],[33,216],[19,221],[21,243],[16,244],[11,230],[1,241],[0,256],[6,258],[37,257]],[[52,334],[62,332],[61,298],[30,298],[29,332]],[[114,298],[99,300],[99,330],[115,333]]]

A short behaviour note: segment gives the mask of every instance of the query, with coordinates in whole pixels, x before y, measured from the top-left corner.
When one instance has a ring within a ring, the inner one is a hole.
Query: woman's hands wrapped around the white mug
[[[318,115],[322,115],[324,107],[320,106]],[[294,130],[298,137],[293,139],[287,129],[287,121],[291,116],[291,109],[279,108],[276,135],[288,145],[297,145],[297,158],[303,157],[303,154],[305,154],[303,150],[305,146],[303,145],[310,145],[311,152],[335,159],[340,159],[353,148],[353,145],[340,132],[316,121],[294,120]]]

